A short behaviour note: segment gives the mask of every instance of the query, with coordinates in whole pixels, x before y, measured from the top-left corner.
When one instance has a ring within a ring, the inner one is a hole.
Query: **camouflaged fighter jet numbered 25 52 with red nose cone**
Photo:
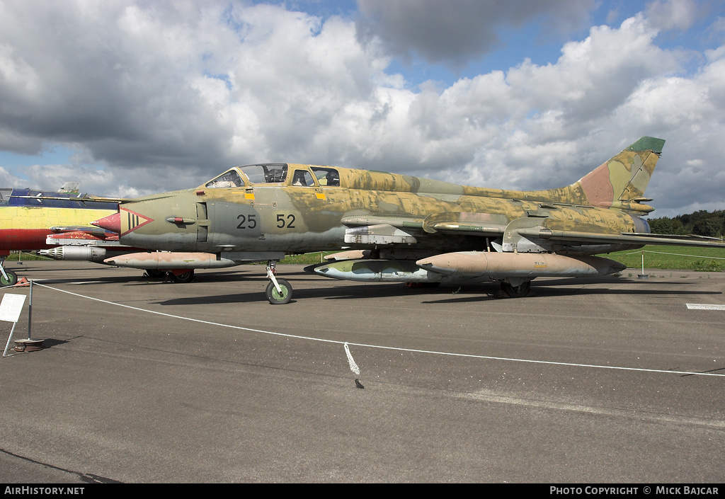
[[[663,144],[642,137],[581,180],[543,191],[329,166],[249,165],[196,189],[122,202],[119,213],[97,224],[134,247],[268,260],[273,304],[292,294],[274,273],[285,254],[346,248],[352,251],[306,270],[353,281],[489,278],[523,297],[537,277],[624,269],[592,256],[600,253],[645,244],[725,247],[719,239],[650,234],[641,217],[653,207],[644,194]]]

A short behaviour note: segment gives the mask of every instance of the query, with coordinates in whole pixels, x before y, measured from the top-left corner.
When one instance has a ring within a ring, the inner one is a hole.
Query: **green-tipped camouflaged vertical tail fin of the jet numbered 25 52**
[[[665,141],[642,137],[624,149],[584,178],[573,184],[575,191],[584,194],[587,203],[600,207],[624,207],[632,209],[644,197],[647,183],[655,170],[657,160],[662,154]],[[651,207],[641,205],[636,211],[649,211]]]

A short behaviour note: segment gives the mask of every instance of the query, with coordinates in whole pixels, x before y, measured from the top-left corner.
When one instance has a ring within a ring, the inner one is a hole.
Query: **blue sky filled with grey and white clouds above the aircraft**
[[[666,139],[725,209],[719,0],[2,0],[0,186],[134,197],[303,162],[506,189]]]

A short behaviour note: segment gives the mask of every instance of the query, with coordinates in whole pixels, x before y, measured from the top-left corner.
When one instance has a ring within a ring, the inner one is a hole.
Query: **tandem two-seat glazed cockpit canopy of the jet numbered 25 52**
[[[339,187],[340,175],[328,166],[265,163],[236,166],[204,184],[207,189],[245,186]]]

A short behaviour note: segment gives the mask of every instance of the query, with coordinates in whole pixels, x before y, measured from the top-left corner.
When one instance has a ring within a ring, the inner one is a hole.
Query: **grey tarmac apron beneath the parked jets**
[[[687,307],[725,305],[724,273],[537,279],[508,299],[280,265],[294,296],[274,306],[259,265],[189,284],[7,265],[33,279],[46,348],[0,359],[0,482],[725,478],[725,310]]]

